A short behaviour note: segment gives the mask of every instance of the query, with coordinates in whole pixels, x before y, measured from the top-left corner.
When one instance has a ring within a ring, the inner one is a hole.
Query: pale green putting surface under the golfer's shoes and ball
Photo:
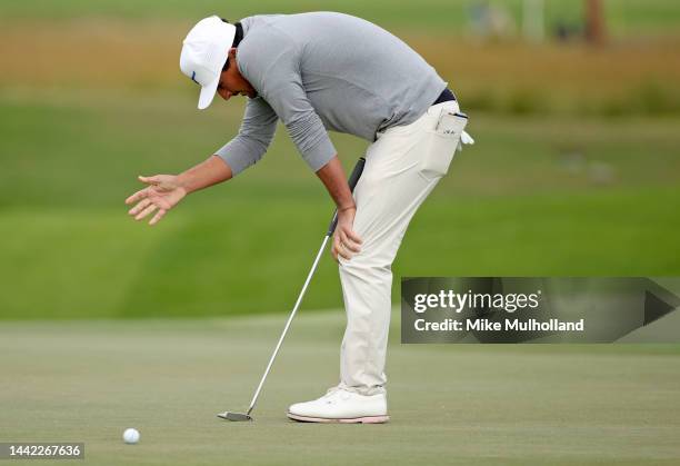
[[[92,465],[680,462],[680,345],[407,346],[398,315],[391,423],[284,416],[337,383],[340,310],[298,316],[253,423],[218,419],[247,408],[284,319],[3,323],[0,442],[84,442]]]

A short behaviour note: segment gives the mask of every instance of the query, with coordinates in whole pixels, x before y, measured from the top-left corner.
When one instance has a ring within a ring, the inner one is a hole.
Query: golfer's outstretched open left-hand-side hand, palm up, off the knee
[[[139,180],[149,186],[126,199],[128,206],[137,202],[137,206],[128,211],[134,217],[134,220],[141,220],[156,211],[156,215],[149,221],[149,225],[156,225],[168,210],[177,206],[187,196],[187,189],[174,175],[140,176]]]

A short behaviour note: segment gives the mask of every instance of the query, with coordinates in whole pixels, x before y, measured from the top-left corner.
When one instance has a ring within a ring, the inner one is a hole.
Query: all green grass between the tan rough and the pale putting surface
[[[332,205],[284,131],[258,166],[191,196],[150,228],[128,218],[122,204],[139,188],[136,176],[202,160],[236,130],[238,108],[193,113],[193,99],[136,96],[2,102],[0,317],[290,307]],[[473,117],[478,145],[457,156],[414,219],[396,281],[419,275],[676,275],[676,128],[673,120]],[[348,167],[366,147],[333,138]],[[341,306],[330,257],[304,306]]]

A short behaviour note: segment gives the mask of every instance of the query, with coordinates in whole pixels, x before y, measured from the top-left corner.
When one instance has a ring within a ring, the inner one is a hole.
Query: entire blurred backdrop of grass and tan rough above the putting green
[[[123,199],[238,131],[196,110],[178,67],[200,18],[334,10],[411,44],[457,92],[477,145],[414,218],[401,276],[680,272],[680,2],[83,0],[0,3],[0,318],[288,311],[332,212],[279,127],[258,166],[157,227]],[[540,2],[539,2],[540,3]],[[332,135],[349,169],[367,143]],[[327,256],[304,308],[339,308]]]

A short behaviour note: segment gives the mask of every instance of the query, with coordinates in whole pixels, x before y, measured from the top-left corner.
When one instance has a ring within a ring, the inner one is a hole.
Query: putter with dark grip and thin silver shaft
[[[354,192],[354,187],[357,186],[357,182],[359,181],[359,178],[361,177],[361,172],[363,171],[364,163],[366,163],[366,159],[363,157],[359,158],[359,161],[357,162],[357,165],[354,166],[354,169],[352,170],[350,175],[348,185],[352,192]],[[262,378],[260,379],[260,385],[258,385],[258,388],[256,389],[252,400],[250,401],[248,412],[246,413],[224,412],[224,413],[218,414],[218,417],[222,419],[227,419],[227,420],[233,420],[233,422],[252,420],[252,416],[250,414],[252,413],[256,404],[258,403],[258,397],[260,396],[260,391],[262,390],[264,380],[267,380],[267,376],[269,375],[269,370],[271,369],[271,366],[274,359],[277,358],[277,355],[279,354],[279,349],[281,348],[283,338],[286,338],[286,334],[288,334],[288,328],[290,327],[290,324],[292,323],[293,317],[296,317],[296,313],[298,311],[298,308],[300,307],[300,303],[302,303],[302,298],[304,297],[307,287],[309,286],[309,282],[311,281],[311,278],[314,275],[314,271],[317,271],[317,266],[319,265],[319,260],[321,259],[323,249],[326,249],[326,245],[328,244],[329,238],[333,235],[333,231],[336,231],[337,226],[338,226],[338,209],[336,209],[336,212],[333,214],[333,219],[331,220],[328,227],[328,231],[326,232],[326,236],[323,237],[323,242],[321,244],[321,248],[319,249],[319,252],[317,252],[317,258],[314,259],[314,264],[312,264],[312,268],[307,276],[307,280],[304,280],[304,285],[302,286],[302,291],[300,291],[300,295],[298,296],[298,300],[296,301],[296,305],[293,306],[293,310],[290,313],[290,316],[288,317],[288,321],[286,323],[286,326],[283,327],[283,331],[281,333],[281,336],[279,337],[279,343],[277,343],[273,354],[271,355],[271,358],[269,358],[269,364],[267,365],[267,369],[264,369],[264,374],[262,375]]]

